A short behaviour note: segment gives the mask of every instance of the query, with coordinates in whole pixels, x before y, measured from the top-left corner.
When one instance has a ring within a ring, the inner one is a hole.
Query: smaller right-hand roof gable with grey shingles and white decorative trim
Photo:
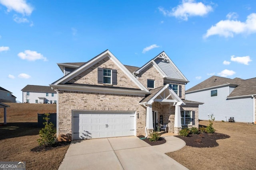
[[[144,66],[142,66],[139,70],[135,72],[135,74],[139,74],[142,70],[147,68],[152,64],[156,70],[163,76],[163,78],[167,78],[169,80],[180,80],[183,82],[189,82],[188,79],[180,72],[178,67],[172,62],[172,60],[166,55],[163,51],[158,54],[154,59],[150,60]]]

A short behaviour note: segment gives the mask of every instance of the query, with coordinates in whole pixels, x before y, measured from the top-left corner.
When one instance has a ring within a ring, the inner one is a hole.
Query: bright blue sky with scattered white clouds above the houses
[[[190,81],[254,78],[255,0],[0,0],[0,86],[22,101],[27,84],[62,77],[56,63],[109,49],[142,66],[165,51]]]

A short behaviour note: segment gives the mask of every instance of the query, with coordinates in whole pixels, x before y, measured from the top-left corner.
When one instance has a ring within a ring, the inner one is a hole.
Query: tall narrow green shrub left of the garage
[[[43,123],[44,128],[39,131],[39,136],[41,139],[37,139],[37,141],[39,145],[53,145],[54,143],[56,143],[56,130],[53,129],[54,124],[52,122],[48,123],[48,121],[50,120],[50,114],[46,113],[44,115],[46,115],[46,117],[44,117],[43,119],[46,120],[46,122]]]

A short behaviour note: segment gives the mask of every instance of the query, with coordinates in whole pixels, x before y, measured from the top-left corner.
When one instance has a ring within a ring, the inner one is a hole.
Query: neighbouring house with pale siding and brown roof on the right
[[[234,117],[236,122],[255,122],[256,78],[224,78],[212,76],[186,90],[186,99],[203,102],[199,106],[199,119],[210,115],[217,121]]]

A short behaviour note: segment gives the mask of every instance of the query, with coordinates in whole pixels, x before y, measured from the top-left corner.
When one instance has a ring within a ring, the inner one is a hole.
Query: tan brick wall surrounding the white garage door
[[[146,109],[139,105],[143,96],[60,91],[58,97],[59,139],[72,134],[72,110],[137,111],[136,133],[145,135]]]

